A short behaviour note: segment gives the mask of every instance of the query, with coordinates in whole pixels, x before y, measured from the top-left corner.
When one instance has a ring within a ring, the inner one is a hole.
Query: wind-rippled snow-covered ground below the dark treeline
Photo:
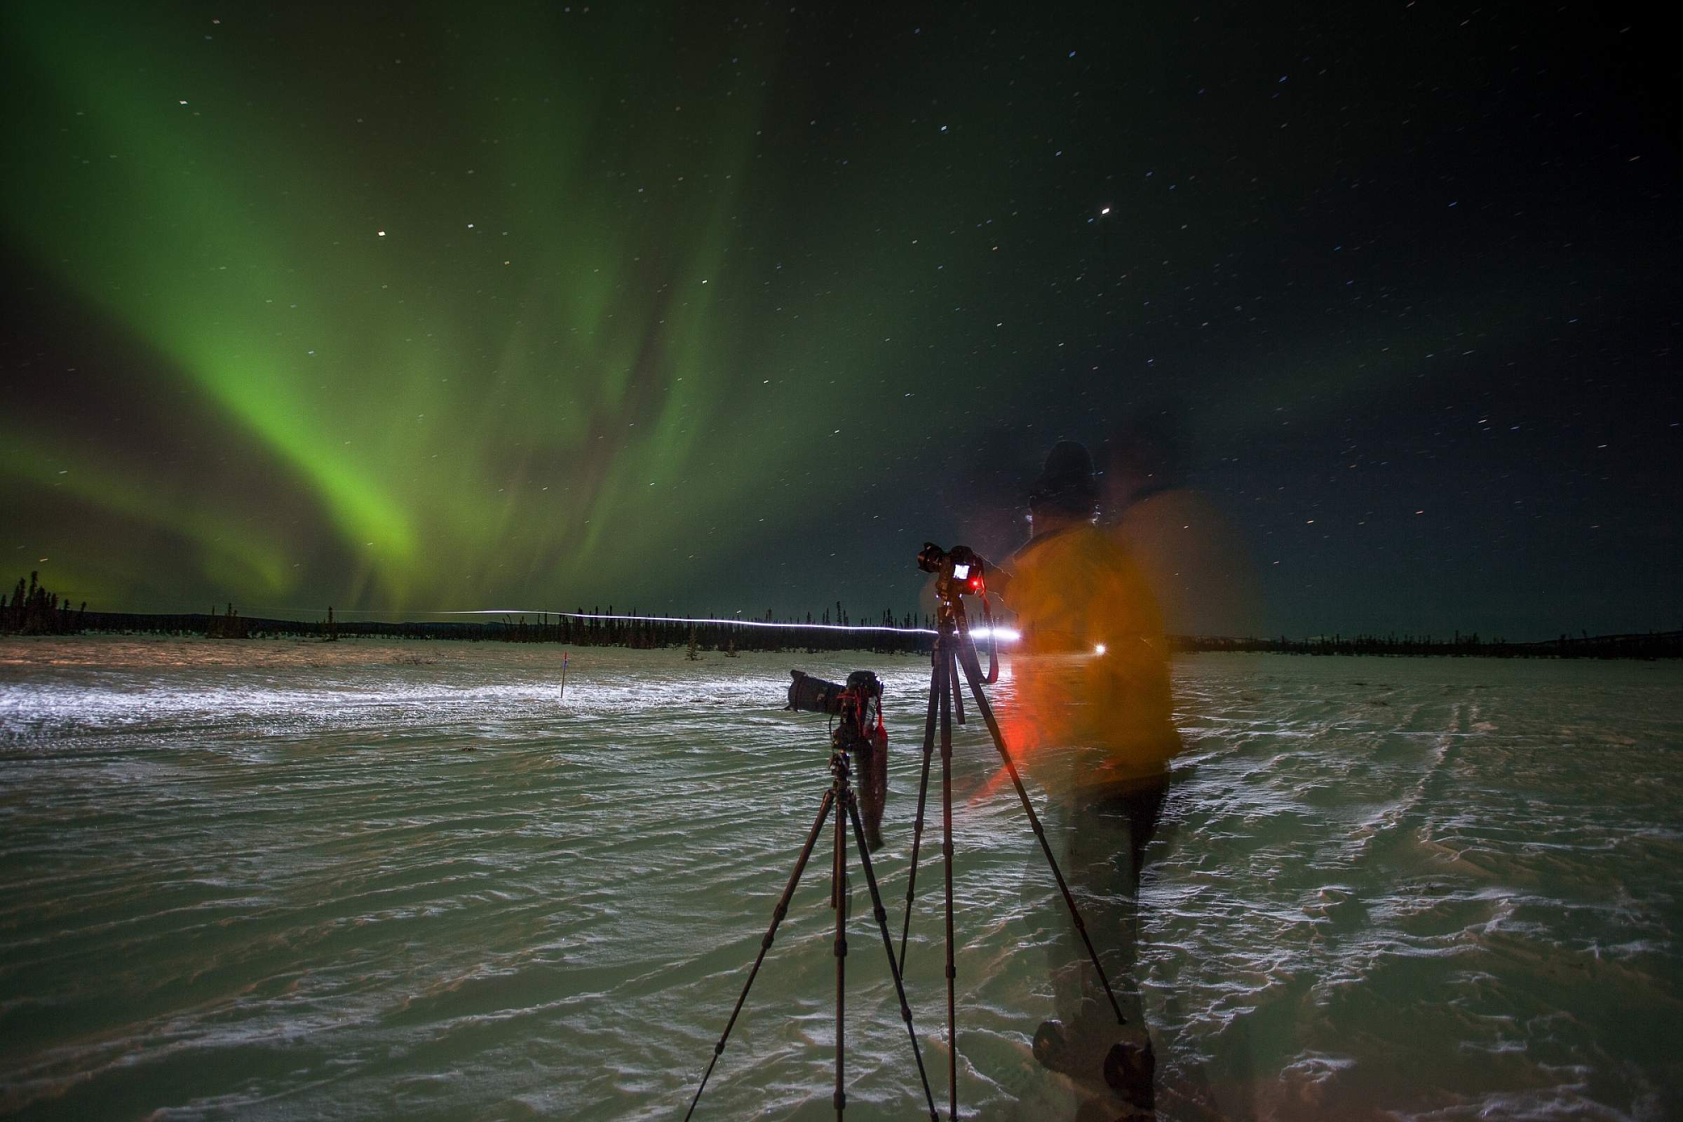
[[[897,937],[916,658],[584,649],[562,700],[547,646],[0,643],[0,1114],[682,1117],[828,786],[791,666],[887,683]],[[1175,671],[1160,1117],[1683,1117],[1683,668]],[[1010,787],[974,799],[974,717],[954,755],[959,1098],[1072,1117],[1028,1058],[1052,885]],[[946,1117],[937,858],[907,986]],[[919,1117],[853,886],[848,1117]],[[833,1117],[826,895],[828,838],[698,1119]]]

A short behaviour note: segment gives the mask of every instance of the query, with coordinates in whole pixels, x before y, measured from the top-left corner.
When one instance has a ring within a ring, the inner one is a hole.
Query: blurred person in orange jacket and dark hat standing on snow
[[[1035,1058],[1077,1080],[1102,1078],[1126,1103],[1106,1117],[1149,1117],[1155,1053],[1133,977],[1146,846],[1180,752],[1168,649],[1149,582],[1116,535],[1097,527],[1099,486],[1086,446],[1052,447],[1028,495],[1030,538],[991,587],[1017,617],[1015,696],[1006,742],[1049,799],[1047,839],[1092,939],[1126,1024],[1055,895],[1049,944],[1057,1016]],[[1025,888],[1049,873],[1037,853]],[[1082,1114],[1079,1117],[1089,1117]],[[1099,1117],[1099,1115],[1094,1115]]]

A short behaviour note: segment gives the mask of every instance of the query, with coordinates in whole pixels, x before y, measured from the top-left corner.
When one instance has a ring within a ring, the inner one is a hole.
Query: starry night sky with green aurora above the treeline
[[[1638,12],[7,5],[0,575],[858,619],[1070,437],[1175,629],[1680,627]]]

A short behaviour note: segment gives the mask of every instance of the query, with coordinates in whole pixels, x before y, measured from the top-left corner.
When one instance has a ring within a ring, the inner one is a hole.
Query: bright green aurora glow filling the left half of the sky
[[[345,555],[327,560],[350,562],[355,602],[577,580],[720,516],[735,491],[685,486],[703,471],[742,479],[788,451],[751,439],[776,395],[756,400],[739,368],[788,357],[741,338],[727,293],[751,94],[611,126],[599,106],[633,74],[581,81],[594,44],[503,27],[414,44],[461,72],[427,74],[412,126],[417,96],[396,98],[394,121],[384,93],[406,82],[402,42],[364,69],[215,35],[182,57],[182,34],[146,27],[106,27],[96,52],[86,27],[34,30],[59,104],[79,106],[59,143],[84,172],[54,168],[20,232],[214,405],[224,456],[268,483],[207,481],[177,505],[160,501],[168,478],[86,449],[62,484],[135,533],[180,537],[205,579],[284,601],[320,579],[303,570],[332,527]],[[162,42],[130,37],[148,30]],[[670,173],[680,153],[688,175]],[[62,451],[17,436],[8,471],[57,483]],[[276,525],[276,493],[300,484],[321,525]],[[128,592],[111,577],[61,580]]]

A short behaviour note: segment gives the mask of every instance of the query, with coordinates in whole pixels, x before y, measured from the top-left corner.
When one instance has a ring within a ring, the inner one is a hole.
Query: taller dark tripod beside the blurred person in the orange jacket
[[[953,552],[958,553],[958,550]],[[981,582],[976,580],[969,585],[969,589],[980,590]],[[1005,735],[1000,732],[1000,722],[995,718],[993,707],[988,705],[988,698],[981,691],[983,685],[991,685],[1000,676],[998,654],[990,651],[988,675],[983,676],[981,659],[976,658],[976,644],[969,638],[969,622],[964,619],[964,606],[959,601],[959,595],[961,590],[956,587],[953,579],[942,577],[937,580],[937,631],[936,648],[931,656],[934,664],[929,671],[929,708],[924,715],[924,774],[917,786],[917,818],[912,821],[912,861],[911,873],[905,881],[905,924],[900,929],[899,962],[899,971],[904,972],[905,935],[912,927],[912,893],[917,888],[917,851],[924,838],[924,801],[929,792],[929,760],[934,754],[936,715],[939,713],[941,855],[946,866],[948,1103],[951,1122],[958,1122],[958,1018],[953,992],[953,981],[958,977],[958,972],[953,969],[953,713],[958,713],[958,722],[963,725],[964,700],[959,693],[959,668],[964,669],[964,678],[969,681],[969,693],[976,700],[976,708],[981,712],[983,722],[988,725],[988,733],[993,737],[993,747],[1000,750],[1000,759],[1005,760],[1005,770],[1011,777],[1011,786],[1017,787],[1017,797],[1022,799],[1023,812],[1028,816],[1028,826],[1033,829],[1035,838],[1040,839],[1040,851],[1045,853],[1047,865],[1052,866],[1052,876],[1057,880],[1059,892],[1064,893],[1064,903],[1069,905],[1069,915],[1075,922],[1075,930],[1080,934],[1080,940],[1087,945],[1087,957],[1092,959],[1092,969],[1097,971],[1099,982],[1104,984],[1104,994],[1111,999],[1111,1009],[1116,1013],[1116,1023],[1128,1023],[1128,1018],[1123,1016],[1121,1004],[1116,1001],[1116,992],[1111,989],[1111,979],[1106,977],[1104,967],[1099,966],[1099,952],[1094,950],[1092,937],[1087,935],[1087,925],[1080,918],[1080,908],[1075,907],[1075,897],[1070,895],[1069,885],[1064,881],[1064,871],[1059,868],[1057,858],[1052,856],[1052,844],[1047,841],[1047,833],[1040,824],[1040,816],[1035,814],[1035,807],[1028,801],[1028,792],[1023,789],[1022,775],[1017,774],[1017,760],[1011,759],[1010,750],[1005,747]],[[991,624],[986,599],[983,599],[981,606],[983,617]]]

